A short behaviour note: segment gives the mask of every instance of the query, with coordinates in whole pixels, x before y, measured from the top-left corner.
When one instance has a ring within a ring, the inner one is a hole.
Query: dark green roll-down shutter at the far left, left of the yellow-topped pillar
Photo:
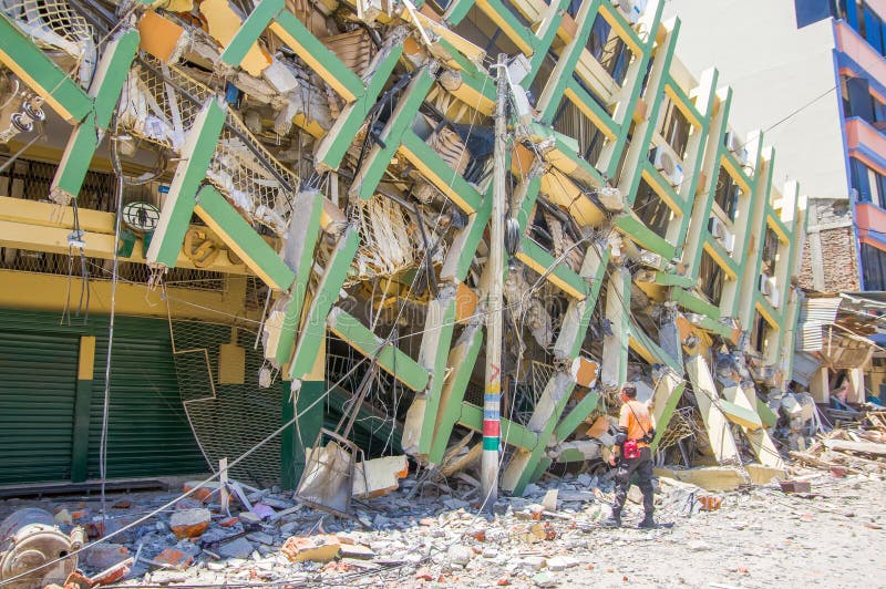
[[[71,478],[80,338],[0,329],[0,485]]]

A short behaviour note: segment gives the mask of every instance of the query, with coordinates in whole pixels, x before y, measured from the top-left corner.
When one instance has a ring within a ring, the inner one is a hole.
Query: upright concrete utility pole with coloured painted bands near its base
[[[495,111],[495,153],[490,226],[490,288],[486,291],[486,388],[483,395],[483,454],[481,457],[481,509],[491,512],[498,498],[498,446],[502,433],[502,299],[505,254],[505,149],[507,148],[507,70],[506,55],[498,55]]]

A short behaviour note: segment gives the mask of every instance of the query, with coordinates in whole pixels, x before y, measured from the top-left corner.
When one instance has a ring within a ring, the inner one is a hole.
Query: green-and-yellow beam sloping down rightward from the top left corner
[[[85,118],[92,99],[68,74],[0,12],[0,61],[68,123]]]

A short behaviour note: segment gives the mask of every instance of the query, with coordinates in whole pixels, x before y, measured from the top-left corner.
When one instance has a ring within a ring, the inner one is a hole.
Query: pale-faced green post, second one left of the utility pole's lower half
[[[446,362],[455,329],[455,288],[441,290],[440,298],[427,303],[424,334],[419,350],[419,365],[431,375],[424,406],[424,423],[419,437],[419,453],[427,454],[434,440],[434,424],[440,410],[441,393],[446,380]]]

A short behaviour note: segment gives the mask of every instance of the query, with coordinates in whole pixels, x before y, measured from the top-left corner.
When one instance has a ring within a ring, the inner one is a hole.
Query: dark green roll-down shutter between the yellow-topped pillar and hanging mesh
[[[106,323],[96,330],[90,410],[89,476],[99,477]],[[168,322],[119,317],[111,361],[107,477],[130,478],[208,472],[185,415],[173,363]]]

